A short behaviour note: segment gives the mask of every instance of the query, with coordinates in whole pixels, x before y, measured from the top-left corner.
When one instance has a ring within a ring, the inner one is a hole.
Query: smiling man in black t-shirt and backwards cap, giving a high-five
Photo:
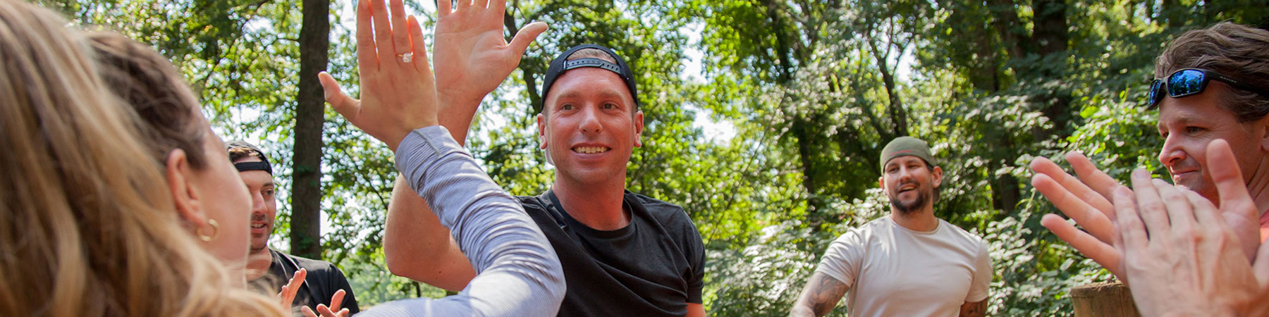
[[[546,29],[525,25],[505,44],[503,5],[461,5],[437,23],[438,119],[459,142],[481,100]],[[678,205],[626,190],[626,167],[643,131],[633,71],[609,48],[574,47],[551,62],[541,95],[538,141],[555,181],[520,203],[562,264],[560,316],[704,316],[704,245],[692,219]],[[426,202],[400,179],[386,226],[393,274],[449,290],[476,275]]]

